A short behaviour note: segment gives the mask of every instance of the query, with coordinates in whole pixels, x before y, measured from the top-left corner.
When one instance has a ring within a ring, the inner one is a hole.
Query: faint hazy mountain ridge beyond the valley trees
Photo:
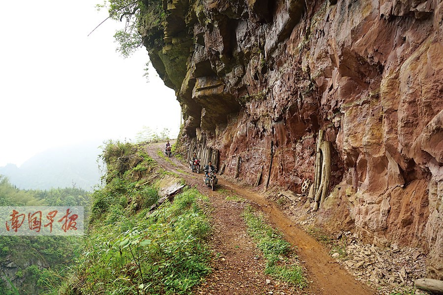
[[[41,152],[20,167],[7,164],[0,174],[22,189],[73,187],[93,190],[100,184],[99,142],[83,142]]]

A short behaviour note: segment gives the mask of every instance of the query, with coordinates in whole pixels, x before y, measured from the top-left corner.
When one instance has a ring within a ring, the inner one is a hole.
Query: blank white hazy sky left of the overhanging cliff
[[[135,139],[148,126],[178,134],[180,106],[145,48],[124,59],[94,0],[2,3],[0,166],[82,141]]]

